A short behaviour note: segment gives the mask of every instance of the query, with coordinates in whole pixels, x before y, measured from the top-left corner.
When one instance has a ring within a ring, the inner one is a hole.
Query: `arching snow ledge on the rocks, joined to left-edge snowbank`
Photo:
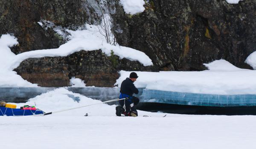
[[[9,48],[18,44],[17,39],[9,34],[2,35],[0,37],[0,87],[38,87],[37,84],[29,83],[12,70],[27,58],[66,57],[81,50],[93,51],[101,49],[108,56],[113,51],[121,59],[125,57],[129,60],[137,60],[144,66],[153,65],[151,59],[143,52],[107,43],[105,37],[99,33],[97,26],[86,24],[85,27],[86,29],[84,30],[66,30],[71,34],[68,37],[70,40],[57,49],[33,50],[17,55],[12,53]]]

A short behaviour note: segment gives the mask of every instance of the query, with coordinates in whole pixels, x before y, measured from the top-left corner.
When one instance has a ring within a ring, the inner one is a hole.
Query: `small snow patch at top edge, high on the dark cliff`
[[[137,14],[145,10],[144,0],[120,0],[120,2],[127,14]]]

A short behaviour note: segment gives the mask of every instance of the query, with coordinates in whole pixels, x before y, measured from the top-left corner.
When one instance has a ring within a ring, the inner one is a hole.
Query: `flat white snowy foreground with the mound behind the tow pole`
[[[52,112],[100,101],[60,88],[18,106],[35,103],[45,112]],[[83,116],[85,113],[89,116]],[[253,149],[256,146],[256,116],[167,114],[162,117],[164,113],[138,113],[139,117],[116,117],[115,106],[99,104],[47,116],[2,116],[1,148]]]

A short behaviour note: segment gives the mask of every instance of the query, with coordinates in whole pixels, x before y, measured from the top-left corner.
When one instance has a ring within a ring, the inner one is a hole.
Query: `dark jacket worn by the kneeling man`
[[[132,80],[127,77],[125,80],[122,81],[120,93],[132,97],[134,93],[138,94],[139,90],[134,86]]]

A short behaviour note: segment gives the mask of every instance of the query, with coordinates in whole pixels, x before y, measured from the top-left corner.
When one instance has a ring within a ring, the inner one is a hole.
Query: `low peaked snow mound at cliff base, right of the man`
[[[229,63],[227,60],[215,60],[211,63],[204,63],[210,71],[215,72],[237,72],[237,71],[250,71],[249,69],[241,69]]]

